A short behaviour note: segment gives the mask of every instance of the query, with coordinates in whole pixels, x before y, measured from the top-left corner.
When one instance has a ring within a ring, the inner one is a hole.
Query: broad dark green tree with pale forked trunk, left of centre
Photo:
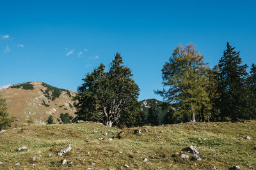
[[[109,71],[100,64],[92,73],[86,74],[78,87],[78,120],[102,122],[108,126],[138,125],[142,120],[138,96],[140,89],[132,80],[131,69],[124,64],[120,53],[110,64]]]

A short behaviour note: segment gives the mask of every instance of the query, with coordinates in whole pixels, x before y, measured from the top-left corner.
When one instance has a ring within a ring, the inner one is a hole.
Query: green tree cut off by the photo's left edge
[[[10,127],[13,122],[13,118],[8,117],[6,101],[0,96],[0,130]]]

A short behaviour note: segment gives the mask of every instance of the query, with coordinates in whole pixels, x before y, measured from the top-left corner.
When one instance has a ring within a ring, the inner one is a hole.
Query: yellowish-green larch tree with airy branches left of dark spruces
[[[184,48],[179,45],[162,69],[163,85],[169,87],[168,90],[157,90],[168,103],[175,103],[179,110],[175,115],[179,115],[180,120],[196,122],[201,117],[202,120],[208,118],[211,104],[207,94],[206,85],[208,83],[207,64],[204,56],[200,55],[191,43]]]

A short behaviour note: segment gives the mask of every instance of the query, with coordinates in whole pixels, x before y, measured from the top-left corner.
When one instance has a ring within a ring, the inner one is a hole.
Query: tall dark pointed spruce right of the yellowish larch
[[[246,109],[246,64],[241,65],[240,52],[235,51],[227,43],[227,49],[223,52],[218,64],[218,92],[220,97],[216,106],[220,110],[221,120],[231,118],[237,120],[243,118]]]

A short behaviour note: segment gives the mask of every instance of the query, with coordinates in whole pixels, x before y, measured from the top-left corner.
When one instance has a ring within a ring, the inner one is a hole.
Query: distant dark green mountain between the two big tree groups
[[[172,104],[164,103],[163,101],[159,101],[157,99],[147,99],[140,101],[141,109],[145,111],[146,115],[148,115],[149,104],[152,103],[153,106],[156,108],[157,118],[159,124],[164,124],[164,116],[166,113],[173,109]]]

